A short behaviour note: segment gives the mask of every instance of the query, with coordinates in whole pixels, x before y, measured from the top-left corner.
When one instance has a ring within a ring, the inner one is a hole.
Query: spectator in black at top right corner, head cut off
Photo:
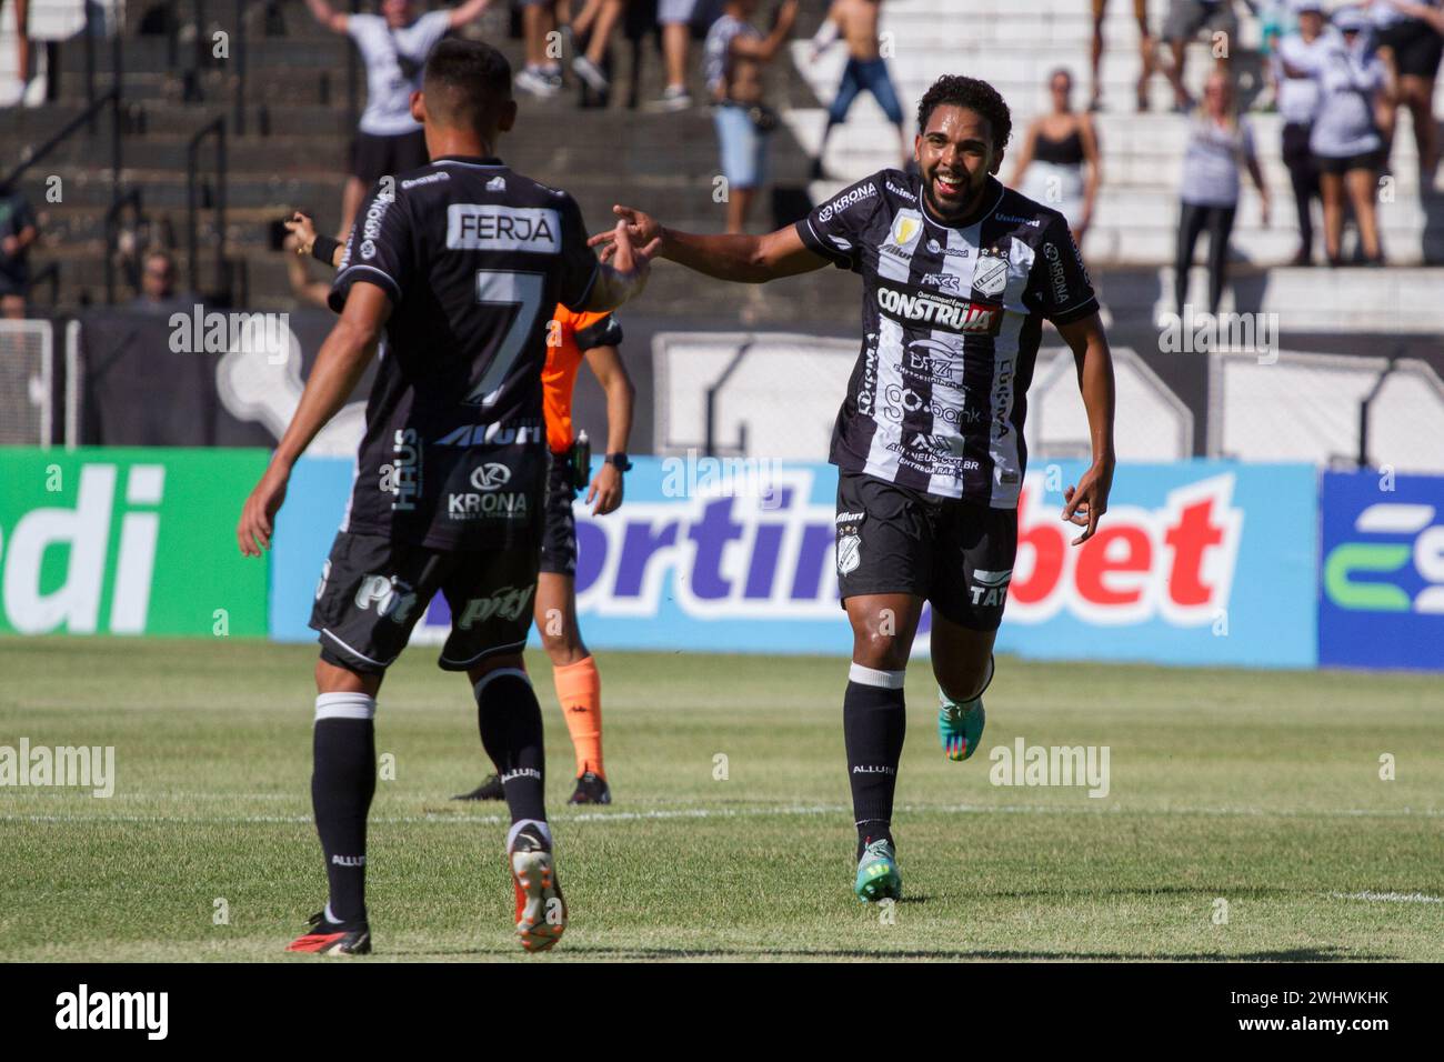
[[[1391,66],[1395,92],[1385,101],[1382,121],[1385,157],[1393,147],[1395,114],[1402,104],[1414,124],[1414,143],[1419,153],[1419,188],[1434,188],[1440,163],[1438,129],[1434,124],[1434,79],[1444,55],[1444,9],[1441,0],[1372,0],[1369,14],[1378,33],[1376,43]]]

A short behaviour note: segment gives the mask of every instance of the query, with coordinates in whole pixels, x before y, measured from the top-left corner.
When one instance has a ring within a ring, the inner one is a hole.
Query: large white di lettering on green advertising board
[[[160,533],[160,514],[153,510],[165,494],[166,470],[165,465],[131,465],[118,500],[117,478],[117,465],[85,464],[74,507],[32,509],[9,533],[0,527],[3,603],[6,618],[17,633],[98,633],[111,542],[118,543],[118,553],[108,630],[111,634],[144,633]],[[113,535],[111,519],[121,507],[130,511],[123,511],[120,535]],[[51,565],[45,564],[48,555]],[[43,585],[48,590],[42,592],[42,568],[53,569],[56,556],[65,558],[64,578],[56,584],[55,572],[46,571]]]

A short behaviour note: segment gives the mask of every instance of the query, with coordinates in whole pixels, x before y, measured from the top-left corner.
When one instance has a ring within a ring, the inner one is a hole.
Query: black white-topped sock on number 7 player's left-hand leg
[[[365,816],[375,796],[375,698],[321,694],[310,805],[326,857],[332,922],[365,919]]]

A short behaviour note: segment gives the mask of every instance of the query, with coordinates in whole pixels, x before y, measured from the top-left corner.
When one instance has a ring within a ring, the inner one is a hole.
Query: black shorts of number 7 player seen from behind
[[[439,590],[452,611],[445,670],[466,670],[527,643],[537,552],[459,552],[339,532],[321,569],[310,627],[321,659],[360,675],[383,673]]]

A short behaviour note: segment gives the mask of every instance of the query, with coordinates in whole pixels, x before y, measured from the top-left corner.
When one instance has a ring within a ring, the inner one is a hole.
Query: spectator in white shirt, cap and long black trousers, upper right
[[[1324,35],[1323,0],[1292,0],[1298,29],[1279,39],[1271,56],[1278,85],[1278,113],[1284,118],[1284,165],[1298,207],[1295,266],[1314,264],[1313,202],[1318,198],[1318,168],[1308,146],[1318,110],[1318,66],[1328,38]]]

